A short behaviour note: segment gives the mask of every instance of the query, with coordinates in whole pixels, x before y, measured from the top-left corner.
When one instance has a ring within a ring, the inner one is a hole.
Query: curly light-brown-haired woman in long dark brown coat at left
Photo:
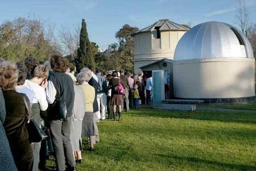
[[[17,169],[31,171],[33,167],[33,152],[28,140],[26,106],[23,100],[24,94],[15,91],[17,81],[18,70],[16,65],[12,62],[1,61],[0,86],[6,107],[6,119],[3,127],[5,128]]]

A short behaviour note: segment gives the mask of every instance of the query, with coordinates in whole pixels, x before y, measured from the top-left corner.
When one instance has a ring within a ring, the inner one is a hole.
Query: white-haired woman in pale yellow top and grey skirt
[[[82,137],[89,137],[90,150],[94,151],[95,136],[94,136],[94,124],[93,124],[93,102],[95,98],[95,90],[93,86],[88,84],[91,78],[90,72],[81,72],[77,74],[77,81],[84,90],[85,97],[85,115],[82,120]]]

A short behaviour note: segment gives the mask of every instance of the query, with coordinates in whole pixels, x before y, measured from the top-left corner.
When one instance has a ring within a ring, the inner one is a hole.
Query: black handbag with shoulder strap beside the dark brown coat
[[[46,133],[38,126],[33,118],[31,118],[31,108],[28,106],[27,99],[23,96],[23,100],[27,109],[27,131],[28,139],[30,143],[39,143],[42,140],[47,139]]]

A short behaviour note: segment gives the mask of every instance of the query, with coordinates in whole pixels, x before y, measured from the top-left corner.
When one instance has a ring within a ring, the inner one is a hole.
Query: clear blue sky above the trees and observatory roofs
[[[256,0],[246,0],[256,23]],[[143,28],[159,19],[180,24],[219,21],[236,24],[236,0],[0,0],[0,23],[18,17],[41,19],[75,30],[85,19],[90,41],[101,49],[117,42],[115,32],[124,24]]]

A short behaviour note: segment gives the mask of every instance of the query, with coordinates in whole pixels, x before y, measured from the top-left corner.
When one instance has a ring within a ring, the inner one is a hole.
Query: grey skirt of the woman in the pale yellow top
[[[84,119],[82,119],[82,137],[90,137],[93,135],[93,112],[85,112]]]

